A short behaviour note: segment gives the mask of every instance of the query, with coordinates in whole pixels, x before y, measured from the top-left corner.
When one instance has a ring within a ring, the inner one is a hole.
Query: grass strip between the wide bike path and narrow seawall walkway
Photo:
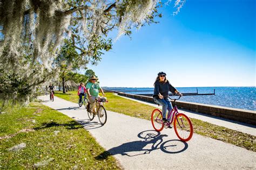
[[[69,91],[68,94],[57,93],[56,96],[77,102],[76,91]],[[154,107],[142,104],[136,101],[127,100],[126,98],[106,93],[109,103],[105,104],[105,108],[110,111],[119,112],[121,114],[138,117],[142,119],[151,119],[151,112]],[[201,136],[210,137],[221,140],[236,146],[244,147],[247,150],[256,151],[255,136],[251,134],[238,132],[232,129],[227,129],[223,126],[214,125],[208,122],[200,121],[199,119],[191,118],[194,132]]]

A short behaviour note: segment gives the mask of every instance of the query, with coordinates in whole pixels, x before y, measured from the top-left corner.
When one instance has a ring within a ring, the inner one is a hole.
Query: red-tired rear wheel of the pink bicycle
[[[152,111],[151,123],[153,125],[154,130],[156,130],[157,132],[160,132],[161,130],[164,129],[162,112],[159,109],[154,109]]]

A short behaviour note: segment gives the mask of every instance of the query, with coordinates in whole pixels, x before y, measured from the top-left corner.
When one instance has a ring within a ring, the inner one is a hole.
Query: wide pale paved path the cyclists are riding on
[[[104,126],[98,117],[89,121],[84,107],[42,96],[43,104],[72,117],[116,157],[125,169],[256,169],[256,152],[194,133],[187,143],[173,129],[152,130],[150,121],[107,111]],[[99,159],[103,159],[99,155]]]

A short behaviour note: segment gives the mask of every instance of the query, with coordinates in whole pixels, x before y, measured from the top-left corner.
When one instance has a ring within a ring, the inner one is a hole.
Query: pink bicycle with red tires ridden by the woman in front
[[[170,120],[171,118],[170,122],[163,123],[162,112],[159,109],[153,110],[151,115],[151,122],[154,130],[156,130],[157,132],[160,132],[164,128],[169,127],[173,123],[174,131],[177,134],[178,138],[181,141],[188,141],[193,136],[193,125],[190,121],[190,118],[188,118],[185,114],[181,114],[180,112],[178,112],[178,108],[175,102],[176,100],[179,100],[180,97],[181,96],[174,99],[174,108],[172,109],[171,114],[168,115],[168,119]],[[172,100],[172,98],[170,99]]]

